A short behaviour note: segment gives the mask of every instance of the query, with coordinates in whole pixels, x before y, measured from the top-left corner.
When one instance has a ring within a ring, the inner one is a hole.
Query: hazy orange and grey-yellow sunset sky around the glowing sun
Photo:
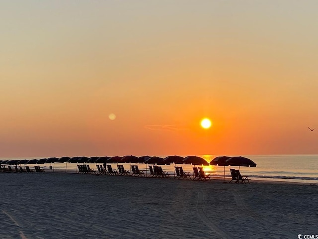
[[[1,0],[0,157],[318,154],[317,8]]]

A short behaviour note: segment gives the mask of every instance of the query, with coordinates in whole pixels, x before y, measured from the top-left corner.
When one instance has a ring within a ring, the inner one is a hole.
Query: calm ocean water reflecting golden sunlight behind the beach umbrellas
[[[137,155],[141,156],[141,155]],[[159,157],[166,157],[167,155],[157,155]],[[186,156],[186,155],[180,155]],[[223,155],[197,155],[210,162],[216,156]],[[237,156],[237,155],[227,155]],[[220,178],[231,177],[230,167],[239,169],[241,174],[248,176],[252,180],[271,180],[271,181],[284,181],[284,182],[298,182],[298,183],[316,183],[318,184],[318,155],[239,155],[250,158],[257,166],[256,167],[234,167],[234,166],[204,166],[204,171],[210,173],[212,176]],[[34,158],[0,158],[0,160],[16,160],[16,159],[34,159]],[[38,158],[40,159],[40,158]],[[130,164],[123,164],[125,169],[129,169]],[[139,169],[148,170],[146,164],[138,164]],[[33,165],[30,165],[33,166]],[[41,167],[46,168],[48,171],[66,171],[75,172],[77,166],[75,163],[55,163],[45,164]],[[52,166],[52,169],[50,169]],[[174,164],[161,165],[164,171],[174,174]],[[193,165],[177,165],[182,166],[184,171],[193,172]],[[91,166],[94,168],[95,164]],[[115,168],[117,167],[114,164]]]

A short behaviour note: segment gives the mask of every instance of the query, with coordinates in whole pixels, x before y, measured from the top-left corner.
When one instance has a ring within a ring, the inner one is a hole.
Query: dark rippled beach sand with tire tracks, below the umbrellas
[[[297,239],[318,235],[318,187],[72,173],[0,173],[0,238]]]

